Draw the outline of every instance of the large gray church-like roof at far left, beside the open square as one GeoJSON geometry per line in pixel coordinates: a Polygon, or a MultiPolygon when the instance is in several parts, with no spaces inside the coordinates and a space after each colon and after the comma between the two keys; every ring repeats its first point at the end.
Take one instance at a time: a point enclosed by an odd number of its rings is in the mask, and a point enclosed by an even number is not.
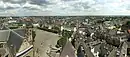
{"type": "Polygon", "coordinates": [[[13,31],[0,30],[0,41],[7,42],[7,45],[11,53],[17,52],[24,40],[24,38],[22,38],[24,37],[24,34],[25,34],[25,29],[14,29],[13,31]],[[14,49],[16,50],[14,51],[14,49]]]}

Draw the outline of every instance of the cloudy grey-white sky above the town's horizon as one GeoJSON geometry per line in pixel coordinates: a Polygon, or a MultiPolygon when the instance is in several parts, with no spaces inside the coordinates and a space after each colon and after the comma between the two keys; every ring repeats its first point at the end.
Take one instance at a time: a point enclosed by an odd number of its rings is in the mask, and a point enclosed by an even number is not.
{"type": "Polygon", "coordinates": [[[130,0],[0,0],[0,16],[130,15],[130,0]]]}

